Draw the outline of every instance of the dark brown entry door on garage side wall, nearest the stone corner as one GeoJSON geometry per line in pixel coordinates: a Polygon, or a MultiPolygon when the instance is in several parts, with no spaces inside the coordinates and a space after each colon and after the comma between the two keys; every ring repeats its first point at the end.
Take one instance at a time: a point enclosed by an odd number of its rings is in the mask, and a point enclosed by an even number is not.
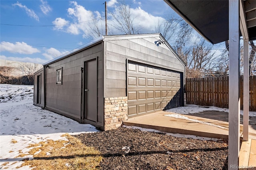
{"type": "Polygon", "coordinates": [[[84,62],[84,119],[97,121],[97,59],[84,62]]]}

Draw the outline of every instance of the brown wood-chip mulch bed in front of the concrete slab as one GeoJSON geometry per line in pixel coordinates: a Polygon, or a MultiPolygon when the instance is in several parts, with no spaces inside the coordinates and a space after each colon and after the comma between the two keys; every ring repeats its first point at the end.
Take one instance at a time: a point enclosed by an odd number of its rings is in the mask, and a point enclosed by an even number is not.
{"type": "Polygon", "coordinates": [[[102,153],[102,170],[228,169],[227,140],[177,138],[123,127],[74,136],[102,153]],[[124,146],[130,146],[128,153],[124,146]]]}

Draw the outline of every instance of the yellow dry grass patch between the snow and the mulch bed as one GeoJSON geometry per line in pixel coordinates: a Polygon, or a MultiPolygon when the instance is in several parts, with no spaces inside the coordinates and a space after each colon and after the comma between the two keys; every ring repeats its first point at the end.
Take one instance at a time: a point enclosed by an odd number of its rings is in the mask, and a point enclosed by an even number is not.
{"type": "MultiPolygon", "coordinates": [[[[94,170],[99,167],[102,156],[98,150],[85,146],[69,134],[64,136],[68,141],[47,140],[30,144],[28,148],[32,149],[26,155],[33,155],[34,159],[24,159],[22,166],[30,165],[35,167],[34,170],[94,170]]],[[[19,155],[23,156],[24,154],[19,155]]]]}

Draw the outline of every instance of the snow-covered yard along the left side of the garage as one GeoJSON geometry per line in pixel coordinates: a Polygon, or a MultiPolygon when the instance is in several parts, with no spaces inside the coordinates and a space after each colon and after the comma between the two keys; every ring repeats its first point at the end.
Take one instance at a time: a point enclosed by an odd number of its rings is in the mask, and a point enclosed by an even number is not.
{"type": "MultiPolygon", "coordinates": [[[[92,125],[79,124],[72,119],[33,105],[32,85],[0,84],[0,169],[16,169],[24,158],[15,158],[28,152],[29,144],[48,139],[66,140],[62,134],[79,134],[98,131],[92,125]],[[16,143],[15,143],[16,142],[16,143]],[[2,165],[4,162],[9,162],[2,165]],[[14,163],[16,162],[16,163],[14,163]]],[[[23,166],[19,169],[31,169],[23,166]]]]}

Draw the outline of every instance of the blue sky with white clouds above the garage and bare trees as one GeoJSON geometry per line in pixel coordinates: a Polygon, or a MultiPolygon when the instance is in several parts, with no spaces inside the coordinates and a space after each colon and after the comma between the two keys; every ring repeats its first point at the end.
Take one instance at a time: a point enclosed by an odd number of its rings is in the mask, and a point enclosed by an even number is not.
{"type": "MultiPolygon", "coordinates": [[[[1,59],[44,63],[78,49],[92,41],[92,19],[102,25],[104,0],[1,0],[0,55],[1,59]],[[9,25],[5,25],[9,24],[9,25]],[[22,26],[17,26],[22,25],[22,26]]],[[[118,2],[108,0],[108,10],[115,12],[118,2]]],[[[153,33],[156,22],[166,14],[175,15],[163,0],[128,0],[140,33],[153,33]]],[[[108,23],[113,18],[108,14],[108,23]]],[[[103,23],[104,25],[104,23],[103,23]]],[[[121,34],[110,27],[114,34],[121,34]]],[[[105,28],[102,28],[105,29],[105,28]]],[[[172,45],[172,44],[171,44],[172,45]]]]}

